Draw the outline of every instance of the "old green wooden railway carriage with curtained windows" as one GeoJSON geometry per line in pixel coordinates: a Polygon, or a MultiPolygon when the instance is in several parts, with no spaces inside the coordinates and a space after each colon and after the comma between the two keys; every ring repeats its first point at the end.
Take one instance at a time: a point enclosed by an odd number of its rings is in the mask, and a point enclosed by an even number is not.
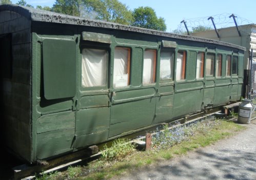
{"type": "Polygon", "coordinates": [[[244,50],[1,5],[6,147],[32,163],[239,101],[244,50]]]}

